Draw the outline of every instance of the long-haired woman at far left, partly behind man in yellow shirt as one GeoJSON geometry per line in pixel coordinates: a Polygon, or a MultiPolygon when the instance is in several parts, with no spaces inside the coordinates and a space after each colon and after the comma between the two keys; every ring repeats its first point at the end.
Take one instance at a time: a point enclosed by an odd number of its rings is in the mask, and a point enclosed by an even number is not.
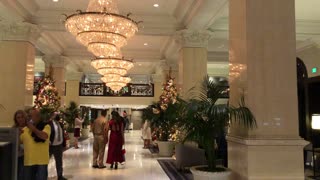
{"type": "MultiPolygon", "coordinates": [[[[14,113],[14,128],[19,128],[20,134],[23,132],[22,129],[27,125],[27,113],[23,110],[18,110],[14,113]]],[[[18,147],[18,180],[23,180],[23,144],[20,144],[18,147]]]]}

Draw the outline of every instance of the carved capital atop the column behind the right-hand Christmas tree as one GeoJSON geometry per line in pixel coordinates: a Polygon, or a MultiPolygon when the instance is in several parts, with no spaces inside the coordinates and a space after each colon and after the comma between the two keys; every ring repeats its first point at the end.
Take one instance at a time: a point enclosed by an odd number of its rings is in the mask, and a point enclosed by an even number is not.
{"type": "Polygon", "coordinates": [[[207,30],[189,30],[177,31],[174,35],[175,42],[183,47],[207,48],[209,40],[213,33],[207,30]]]}

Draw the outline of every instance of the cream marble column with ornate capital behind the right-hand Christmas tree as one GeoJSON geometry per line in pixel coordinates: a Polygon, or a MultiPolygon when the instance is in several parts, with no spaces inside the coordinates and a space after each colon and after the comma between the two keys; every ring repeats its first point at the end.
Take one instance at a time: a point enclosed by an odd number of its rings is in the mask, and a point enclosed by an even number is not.
{"type": "Polygon", "coordinates": [[[201,83],[207,76],[207,46],[212,37],[209,31],[178,31],[176,42],[180,45],[179,51],[179,81],[182,96],[186,97],[188,91],[201,83]]]}

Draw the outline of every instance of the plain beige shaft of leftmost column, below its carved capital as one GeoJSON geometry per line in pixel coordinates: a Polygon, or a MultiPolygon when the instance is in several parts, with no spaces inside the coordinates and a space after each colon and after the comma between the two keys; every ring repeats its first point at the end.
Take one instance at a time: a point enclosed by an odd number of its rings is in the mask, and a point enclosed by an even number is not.
{"type": "Polygon", "coordinates": [[[32,106],[34,46],[28,42],[0,41],[0,126],[11,126],[18,109],[32,106]]]}

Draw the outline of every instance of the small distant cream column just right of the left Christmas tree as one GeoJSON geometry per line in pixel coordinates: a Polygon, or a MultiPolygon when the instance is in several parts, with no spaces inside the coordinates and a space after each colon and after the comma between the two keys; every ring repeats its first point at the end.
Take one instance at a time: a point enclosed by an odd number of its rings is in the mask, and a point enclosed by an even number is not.
{"type": "Polygon", "coordinates": [[[83,76],[82,72],[73,72],[67,76],[65,106],[68,107],[71,101],[80,105],[80,81],[83,76]]]}

